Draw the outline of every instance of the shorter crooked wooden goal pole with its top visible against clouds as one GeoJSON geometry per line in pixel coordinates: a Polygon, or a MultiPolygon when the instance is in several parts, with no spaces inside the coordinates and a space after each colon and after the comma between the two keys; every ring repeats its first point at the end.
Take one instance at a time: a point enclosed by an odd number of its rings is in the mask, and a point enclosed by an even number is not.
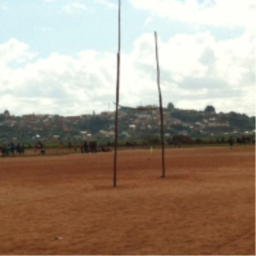
{"type": "Polygon", "coordinates": [[[165,166],[165,141],[164,141],[164,115],[163,115],[163,104],[162,95],[160,89],[160,67],[159,67],[159,55],[158,55],[158,45],[157,45],[157,34],[154,32],[155,41],[155,59],[157,67],[157,85],[159,91],[159,102],[160,102],[160,122],[161,122],[161,141],[162,141],[162,176],[166,177],[166,166],[165,166]]]}

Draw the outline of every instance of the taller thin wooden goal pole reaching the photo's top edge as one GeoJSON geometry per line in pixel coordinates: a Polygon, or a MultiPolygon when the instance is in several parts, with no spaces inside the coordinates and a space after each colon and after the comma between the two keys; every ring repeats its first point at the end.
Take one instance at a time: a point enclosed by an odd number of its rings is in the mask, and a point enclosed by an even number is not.
{"type": "Polygon", "coordinates": [[[119,78],[120,78],[120,48],[121,48],[121,0],[119,0],[119,49],[117,54],[117,82],[116,82],[116,107],[115,107],[115,126],[114,126],[114,155],[113,155],[113,187],[116,187],[117,177],[117,148],[119,133],[119,78]]]}

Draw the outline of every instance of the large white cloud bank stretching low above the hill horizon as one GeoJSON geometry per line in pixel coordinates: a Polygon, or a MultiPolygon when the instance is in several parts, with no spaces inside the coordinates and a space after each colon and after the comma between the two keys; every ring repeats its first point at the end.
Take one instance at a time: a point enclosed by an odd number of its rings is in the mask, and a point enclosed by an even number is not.
{"type": "MultiPolygon", "coordinates": [[[[223,41],[209,32],[180,34],[166,44],[159,38],[164,104],[201,110],[212,104],[218,112],[254,115],[254,45],[250,29],[240,38],[223,41]]],[[[113,107],[116,55],[87,50],[75,57],[53,53],[32,62],[28,46],[15,39],[0,45],[0,55],[1,49],[0,109],[79,114],[106,110],[108,103],[113,107]],[[26,65],[10,66],[19,60],[26,65]]],[[[121,55],[120,75],[121,105],[158,104],[154,34],[143,34],[131,54],[121,55]]]]}

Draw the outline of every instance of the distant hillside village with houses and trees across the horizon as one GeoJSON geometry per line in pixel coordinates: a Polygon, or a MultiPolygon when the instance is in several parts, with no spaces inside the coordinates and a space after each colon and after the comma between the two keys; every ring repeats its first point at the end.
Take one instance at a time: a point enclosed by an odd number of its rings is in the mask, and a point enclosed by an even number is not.
{"type": "MultiPolygon", "coordinates": [[[[160,112],[154,106],[143,111],[119,108],[119,140],[160,141],[160,112]]],[[[201,141],[204,138],[221,141],[229,137],[255,137],[255,117],[241,113],[216,113],[207,106],[202,111],[175,108],[169,103],[164,108],[166,142],[177,136],[201,141]]],[[[81,142],[98,140],[113,142],[114,112],[74,116],[29,113],[12,115],[9,110],[0,113],[0,142],[45,143],[81,142]]]]}

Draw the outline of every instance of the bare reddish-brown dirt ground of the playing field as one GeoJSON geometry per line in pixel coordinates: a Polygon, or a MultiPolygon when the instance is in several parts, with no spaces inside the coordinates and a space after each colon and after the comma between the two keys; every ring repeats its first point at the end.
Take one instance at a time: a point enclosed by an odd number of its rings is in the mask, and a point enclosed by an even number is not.
{"type": "Polygon", "coordinates": [[[0,158],[0,254],[255,254],[254,147],[118,155],[0,158]]]}

